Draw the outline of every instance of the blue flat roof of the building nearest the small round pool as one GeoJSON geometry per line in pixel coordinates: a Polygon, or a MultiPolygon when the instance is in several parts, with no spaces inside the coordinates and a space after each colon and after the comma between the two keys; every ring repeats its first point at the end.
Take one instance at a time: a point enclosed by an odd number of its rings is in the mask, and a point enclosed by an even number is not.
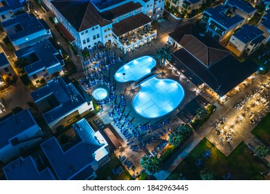
{"type": "MultiPolygon", "coordinates": [[[[42,100],[42,104],[51,104],[49,100],[54,99],[55,105],[52,105],[43,116],[47,123],[51,123],[62,116],[74,112],[78,107],[86,103],[78,90],[74,87],[70,80],[61,77],[54,78],[47,84],[31,93],[35,103],[42,100]]],[[[39,107],[39,106],[37,106],[39,107]]]]}

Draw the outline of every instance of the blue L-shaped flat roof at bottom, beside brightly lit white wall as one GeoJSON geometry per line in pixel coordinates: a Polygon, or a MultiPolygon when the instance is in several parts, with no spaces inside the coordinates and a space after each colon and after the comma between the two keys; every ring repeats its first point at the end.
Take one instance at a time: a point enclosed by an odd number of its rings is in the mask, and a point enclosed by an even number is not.
{"type": "Polygon", "coordinates": [[[58,179],[86,179],[84,174],[79,176],[83,170],[87,170],[87,176],[93,173],[91,163],[94,158],[89,154],[89,146],[85,143],[80,142],[64,152],[53,136],[40,146],[58,179]]]}

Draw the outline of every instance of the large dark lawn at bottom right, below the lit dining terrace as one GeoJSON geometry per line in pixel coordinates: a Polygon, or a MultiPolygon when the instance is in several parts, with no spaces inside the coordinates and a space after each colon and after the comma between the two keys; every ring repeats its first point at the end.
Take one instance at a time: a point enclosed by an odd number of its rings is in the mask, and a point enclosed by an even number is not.
{"type": "Polygon", "coordinates": [[[168,179],[180,179],[179,173],[187,179],[199,180],[199,172],[204,168],[213,170],[215,179],[223,179],[223,175],[231,173],[233,179],[263,179],[261,172],[267,169],[267,166],[262,160],[253,157],[249,148],[241,143],[229,157],[225,157],[222,152],[217,150],[207,139],[202,139],[201,142],[190,152],[179,166],[170,174],[168,179]],[[209,149],[212,152],[210,159],[204,160],[201,168],[195,165],[197,159],[201,159],[202,153],[209,149]]]}

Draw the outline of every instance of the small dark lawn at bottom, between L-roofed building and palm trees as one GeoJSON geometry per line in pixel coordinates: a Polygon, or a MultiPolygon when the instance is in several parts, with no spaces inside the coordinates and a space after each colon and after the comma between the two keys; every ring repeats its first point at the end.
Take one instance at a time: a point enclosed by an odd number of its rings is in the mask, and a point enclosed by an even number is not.
{"type": "Polygon", "coordinates": [[[121,164],[120,160],[115,154],[110,155],[111,161],[109,161],[105,166],[102,166],[97,171],[99,180],[107,180],[107,177],[111,177],[112,180],[132,180],[132,176],[127,172],[125,167],[121,164]],[[124,173],[122,175],[113,175],[112,169],[122,166],[124,173]]]}

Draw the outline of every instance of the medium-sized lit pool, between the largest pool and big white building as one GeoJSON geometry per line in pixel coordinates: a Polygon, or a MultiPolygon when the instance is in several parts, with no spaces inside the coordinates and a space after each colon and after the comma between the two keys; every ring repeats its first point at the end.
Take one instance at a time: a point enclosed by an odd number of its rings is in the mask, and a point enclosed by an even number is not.
{"type": "Polygon", "coordinates": [[[155,66],[156,61],[149,56],[137,58],[123,65],[123,67],[120,67],[120,69],[116,71],[116,81],[129,82],[139,80],[143,76],[151,73],[151,69],[155,66]]]}

